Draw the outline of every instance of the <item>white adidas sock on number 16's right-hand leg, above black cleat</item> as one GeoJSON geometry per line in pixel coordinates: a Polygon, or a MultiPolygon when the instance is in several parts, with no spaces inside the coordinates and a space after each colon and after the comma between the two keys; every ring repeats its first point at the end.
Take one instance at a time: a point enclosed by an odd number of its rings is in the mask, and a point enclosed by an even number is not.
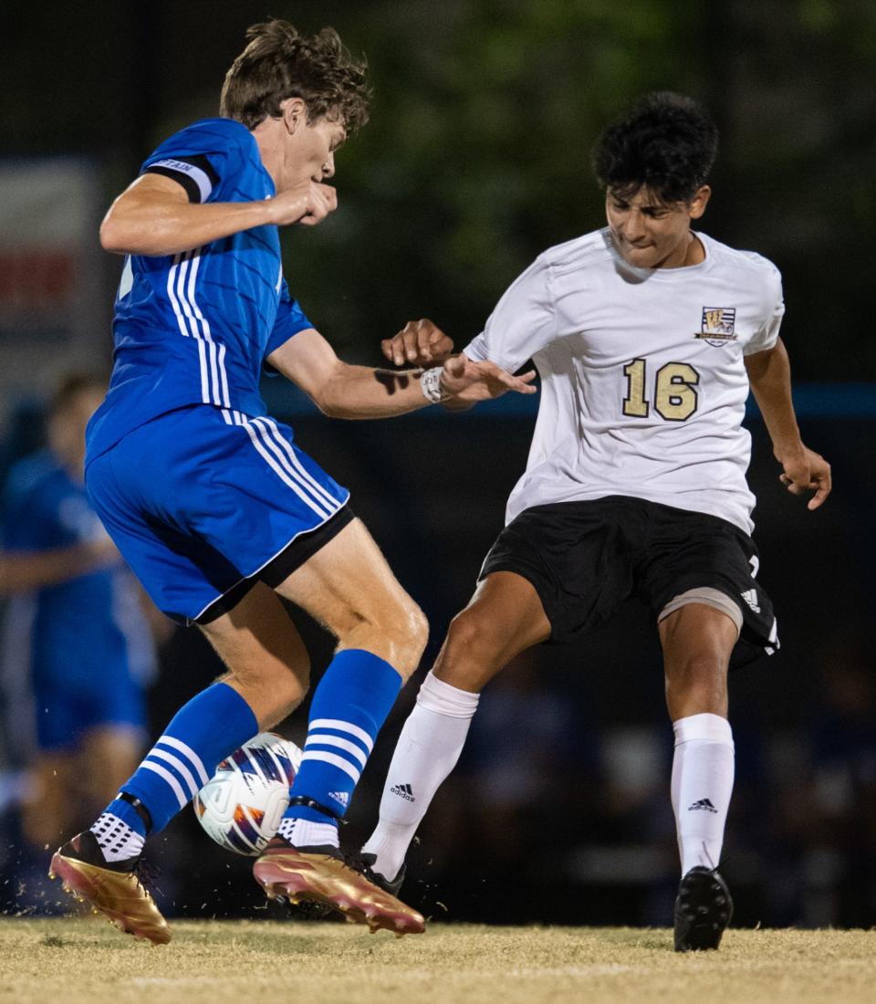
{"type": "Polygon", "coordinates": [[[672,809],[681,874],[696,864],[717,867],[734,789],[734,735],[720,715],[690,715],[672,723],[672,809]]]}

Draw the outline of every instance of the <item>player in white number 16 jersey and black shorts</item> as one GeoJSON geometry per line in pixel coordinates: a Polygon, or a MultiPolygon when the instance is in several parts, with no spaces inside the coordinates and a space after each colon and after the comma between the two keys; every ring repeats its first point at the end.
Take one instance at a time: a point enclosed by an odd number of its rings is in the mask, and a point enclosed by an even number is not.
{"type": "MultiPolygon", "coordinates": [[[[387,888],[486,684],[636,595],[653,611],[675,734],[676,950],[716,948],[729,921],[716,870],[734,779],[727,669],[779,647],[751,538],[750,387],[789,491],[814,490],[816,509],[831,479],[797,427],[778,270],[691,229],[716,146],[691,99],[642,99],[595,152],[608,226],[540,255],[465,349],[512,372],[532,358],[541,402],[507,525],[419,691],[363,848],[387,888]]],[[[396,363],[452,347],[423,347],[412,328],[383,343],[396,363]]]]}

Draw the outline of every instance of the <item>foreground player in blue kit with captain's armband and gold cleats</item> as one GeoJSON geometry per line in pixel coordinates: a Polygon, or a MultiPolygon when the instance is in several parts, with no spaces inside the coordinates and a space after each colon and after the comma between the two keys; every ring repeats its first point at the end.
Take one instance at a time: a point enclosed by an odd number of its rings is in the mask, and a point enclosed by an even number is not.
{"type": "MultiPolygon", "coordinates": [[[[277,370],[333,417],[380,418],[531,393],[533,374],[463,354],[423,373],[337,358],[290,295],[277,227],[314,226],[335,209],[326,181],[367,117],[363,65],[328,28],[308,37],[274,20],[248,38],[222,117],[162,144],[101,225],[103,247],[127,257],[112,379],[86,456],[88,491],[119,551],[160,609],[199,625],[228,673],[177,713],[51,873],[123,931],[170,939],[138,881],[143,843],[222,759],[303,699],[308,657],[282,596],[338,647],[313,695],[289,808],[254,874],[269,896],[418,933],[422,917],[341,853],[337,827],[419,662],[425,618],[348,492],[267,416],[259,378],[277,370]]],[[[418,329],[441,336],[425,321],[418,329]]]]}

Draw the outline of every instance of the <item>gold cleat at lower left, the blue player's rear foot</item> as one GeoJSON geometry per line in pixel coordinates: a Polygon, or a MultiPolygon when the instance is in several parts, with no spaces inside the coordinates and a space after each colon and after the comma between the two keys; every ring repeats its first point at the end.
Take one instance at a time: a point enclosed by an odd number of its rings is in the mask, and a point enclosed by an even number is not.
{"type": "Polygon", "coordinates": [[[112,867],[94,834],[85,830],[54,852],[49,878],[60,878],[65,893],[90,904],[93,913],[103,914],[125,934],[167,945],[171,929],[133,870],[135,863],[121,861],[112,867]],[[103,863],[93,863],[95,859],[103,863]]]}

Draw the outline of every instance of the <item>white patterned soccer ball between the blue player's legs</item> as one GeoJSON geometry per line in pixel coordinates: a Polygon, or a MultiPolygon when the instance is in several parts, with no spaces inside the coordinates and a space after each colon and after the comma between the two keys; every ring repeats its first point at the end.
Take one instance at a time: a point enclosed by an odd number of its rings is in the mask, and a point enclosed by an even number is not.
{"type": "Polygon", "coordinates": [[[301,750],[273,732],[262,732],[216,768],[195,796],[201,825],[226,850],[254,857],[280,828],[301,750]]]}

